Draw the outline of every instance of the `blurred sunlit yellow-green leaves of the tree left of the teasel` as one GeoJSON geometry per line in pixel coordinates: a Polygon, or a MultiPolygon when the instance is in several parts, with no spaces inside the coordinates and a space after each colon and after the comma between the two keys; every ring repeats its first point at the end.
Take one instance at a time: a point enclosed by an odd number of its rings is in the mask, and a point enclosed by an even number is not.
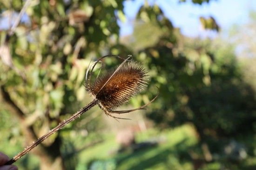
{"type": "MultiPolygon", "coordinates": [[[[19,10],[23,5],[12,3],[19,10]]],[[[11,10],[7,3],[3,8],[11,10]]],[[[40,0],[28,7],[31,24],[18,26],[8,40],[13,63],[26,82],[2,62],[0,72],[6,74],[0,82],[38,134],[48,131],[41,127],[56,124],[61,114],[79,108],[70,109],[70,102],[85,99],[81,84],[90,61],[86,57],[101,53],[108,37],[118,36],[114,9],[121,11],[122,2],[40,0]]]]}

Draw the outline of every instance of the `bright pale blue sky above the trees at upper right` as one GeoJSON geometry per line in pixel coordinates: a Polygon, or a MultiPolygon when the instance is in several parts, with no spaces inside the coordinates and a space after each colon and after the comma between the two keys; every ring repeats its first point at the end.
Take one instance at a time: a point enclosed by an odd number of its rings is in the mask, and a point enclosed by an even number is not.
{"type": "MultiPolygon", "coordinates": [[[[121,35],[133,32],[133,21],[136,13],[145,0],[127,0],[124,2],[126,23],[121,23],[121,35]]],[[[179,0],[148,0],[156,3],[165,16],[175,27],[180,27],[184,35],[190,37],[210,36],[212,32],[202,31],[199,17],[213,16],[223,32],[236,24],[242,25],[249,21],[249,12],[256,11],[256,0],[211,0],[202,5],[193,4],[191,0],[179,3],[179,0]]]]}

